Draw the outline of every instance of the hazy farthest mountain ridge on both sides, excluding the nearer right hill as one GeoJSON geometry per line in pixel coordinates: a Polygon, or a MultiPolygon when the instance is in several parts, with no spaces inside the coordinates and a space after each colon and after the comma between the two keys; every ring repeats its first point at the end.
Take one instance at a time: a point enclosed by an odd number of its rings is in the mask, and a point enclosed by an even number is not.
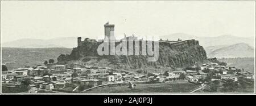
{"type": "MultiPolygon", "coordinates": [[[[86,37],[82,37],[82,40],[86,37]]],[[[160,36],[163,40],[177,41],[178,38],[196,39],[203,47],[234,45],[236,43],[247,43],[254,47],[254,37],[236,37],[223,35],[218,37],[197,37],[185,33],[174,33],[167,36],[160,36]]],[[[48,47],[67,47],[77,46],[77,37],[60,37],[53,39],[18,39],[16,41],[2,43],[2,47],[19,47],[19,48],[48,48],[48,47]]]]}

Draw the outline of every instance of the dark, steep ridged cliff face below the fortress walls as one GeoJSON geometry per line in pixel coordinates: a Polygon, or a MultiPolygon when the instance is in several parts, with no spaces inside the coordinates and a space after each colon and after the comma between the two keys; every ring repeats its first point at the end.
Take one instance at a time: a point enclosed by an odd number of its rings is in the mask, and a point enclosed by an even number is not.
{"type": "Polygon", "coordinates": [[[204,48],[199,45],[199,41],[194,39],[179,42],[160,41],[159,59],[154,62],[148,61],[148,56],[142,55],[100,56],[97,54],[97,47],[100,44],[101,42],[83,42],[81,46],[73,48],[70,55],[60,55],[58,61],[62,64],[75,62],[115,69],[183,68],[207,61],[207,54],[204,48]]]}

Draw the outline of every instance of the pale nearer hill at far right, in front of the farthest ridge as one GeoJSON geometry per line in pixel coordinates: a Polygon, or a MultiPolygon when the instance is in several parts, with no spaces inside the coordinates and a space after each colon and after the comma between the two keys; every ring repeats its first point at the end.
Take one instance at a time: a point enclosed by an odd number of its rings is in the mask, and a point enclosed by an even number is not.
{"type": "Polygon", "coordinates": [[[249,58],[254,57],[254,48],[246,43],[237,43],[226,46],[205,47],[208,58],[249,58]]]}

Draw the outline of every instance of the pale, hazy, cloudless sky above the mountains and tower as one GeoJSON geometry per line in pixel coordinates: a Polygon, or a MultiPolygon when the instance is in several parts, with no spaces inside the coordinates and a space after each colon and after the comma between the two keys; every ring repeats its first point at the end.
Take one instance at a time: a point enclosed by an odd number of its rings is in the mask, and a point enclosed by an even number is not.
{"type": "Polygon", "coordinates": [[[2,42],[104,36],[255,36],[254,1],[1,1],[2,42]]]}

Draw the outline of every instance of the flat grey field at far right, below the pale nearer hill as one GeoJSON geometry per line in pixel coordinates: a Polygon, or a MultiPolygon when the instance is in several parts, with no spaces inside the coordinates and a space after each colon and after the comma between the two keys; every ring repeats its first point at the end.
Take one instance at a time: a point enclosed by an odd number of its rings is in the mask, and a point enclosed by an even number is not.
{"type": "Polygon", "coordinates": [[[243,68],[245,71],[255,72],[254,58],[222,58],[218,60],[228,63],[228,67],[243,68]]]}

